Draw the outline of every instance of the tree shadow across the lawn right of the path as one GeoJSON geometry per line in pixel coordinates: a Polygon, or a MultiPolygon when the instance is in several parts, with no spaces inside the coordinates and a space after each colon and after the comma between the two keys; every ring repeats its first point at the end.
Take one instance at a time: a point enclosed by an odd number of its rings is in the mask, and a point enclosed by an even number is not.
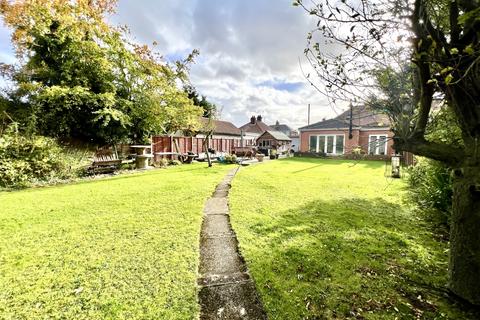
{"type": "Polygon", "coordinates": [[[254,216],[247,260],[272,318],[480,316],[448,296],[447,244],[397,204],[312,201],[254,216]]]}

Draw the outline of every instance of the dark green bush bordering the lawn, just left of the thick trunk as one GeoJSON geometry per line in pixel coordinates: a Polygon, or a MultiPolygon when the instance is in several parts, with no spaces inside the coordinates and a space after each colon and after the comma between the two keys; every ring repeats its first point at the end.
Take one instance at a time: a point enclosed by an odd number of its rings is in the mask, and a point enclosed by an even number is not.
{"type": "Polygon", "coordinates": [[[440,162],[419,158],[409,169],[409,198],[421,209],[437,215],[448,225],[452,210],[452,178],[450,169],[440,162]]]}

